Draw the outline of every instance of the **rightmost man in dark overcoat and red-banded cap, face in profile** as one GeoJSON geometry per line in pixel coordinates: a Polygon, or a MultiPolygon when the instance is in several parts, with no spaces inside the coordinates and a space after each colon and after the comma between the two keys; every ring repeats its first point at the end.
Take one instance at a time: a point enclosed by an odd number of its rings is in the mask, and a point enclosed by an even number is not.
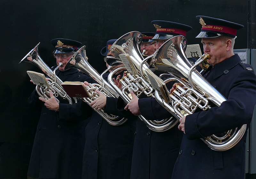
{"type": "Polygon", "coordinates": [[[243,124],[250,125],[256,103],[256,77],[252,66],[244,64],[233,47],[236,30],[243,25],[207,16],[196,16],[202,25],[196,38],[202,38],[204,53],[211,55],[203,76],[227,98],[212,107],[180,118],[184,132],[172,179],[244,178],[245,132],[226,151],[209,148],[200,138],[222,133],[243,124]]]}

